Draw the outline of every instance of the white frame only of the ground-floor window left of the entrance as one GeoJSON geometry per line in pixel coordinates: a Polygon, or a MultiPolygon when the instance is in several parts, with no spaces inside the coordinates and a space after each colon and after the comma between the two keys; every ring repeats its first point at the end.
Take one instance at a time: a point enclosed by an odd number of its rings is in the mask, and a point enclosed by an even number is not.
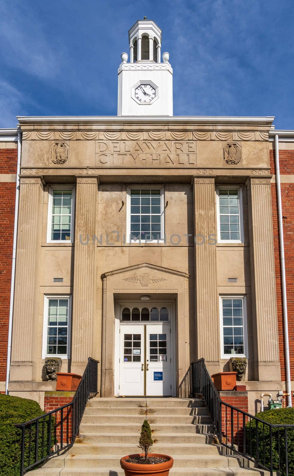
{"type": "Polygon", "coordinates": [[[71,294],[45,294],[44,295],[42,358],[46,358],[46,357],[61,357],[63,359],[71,358],[71,294]],[[67,354],[47,354],[49,299],[68,299],[69,300],[69,315],[68,315],[68,326],[67,326],[67,354]]]}

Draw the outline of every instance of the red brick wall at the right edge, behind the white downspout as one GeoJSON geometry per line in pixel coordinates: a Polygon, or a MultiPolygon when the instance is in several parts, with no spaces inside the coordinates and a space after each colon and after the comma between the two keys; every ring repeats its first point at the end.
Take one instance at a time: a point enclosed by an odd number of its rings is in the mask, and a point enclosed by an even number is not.
{"type": "MultiPolygon", "coordinates": [[[[271,173],[275,174],[274,151],[270,151],[271,173]]],[[[294,174],[294,150],[279,150],[280,174],[294,174]]],[[[291,379],[294,380],[294,183],[281,183],[284,251],[286,268],[286,288],[288,305],[288,329],[290,344],[291,379]]],[[[281,377],[286,378],[285,349],[284,349],[284,322],[282,302],[282,277],[280,260],[280,241],[278,223],[278,205],[276,185],[272,184],[272,208],[274,227],[274,256],[275,256],[275,281],[278,311],[278,332],[281,362],[281,377]]]]}

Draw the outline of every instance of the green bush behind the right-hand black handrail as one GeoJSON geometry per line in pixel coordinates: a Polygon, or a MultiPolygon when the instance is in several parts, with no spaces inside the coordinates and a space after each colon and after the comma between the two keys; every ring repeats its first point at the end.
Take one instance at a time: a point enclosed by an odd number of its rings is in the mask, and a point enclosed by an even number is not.
{"type": "MultiPolygon", "coordinates": [[[[279,408],[274,410],[266,410],[264,412],[257,413],[255,417],[259,418],[260,420],[263,420],[264,422],[271,423],[272,425],[294,425],[294,408],[279,408]]],[[[287,444],[289,475],[294,475],[294,427],[291,429],[287,429],[287,444]]],[[[270,468],[270,431],[269,426],[263,425],[263,423],[261,422],[258,423],[258,448],[260,463],[270,468]]],[[[253,458],[256,458],[255,420],[251,420],[251,422],[248,422],[246,424],[246,449],[247,453],[251,453],[251,456],[253,456],[253,458]]],[[[286,449],[284,428],[280,430],[278,430],[278,428],[273,428],[272,451],[274,471],[280,471],[279,474],[283,476],[286,474],[286,449]],[[279,443],[280,456],[278,447],[279,443]]]]}

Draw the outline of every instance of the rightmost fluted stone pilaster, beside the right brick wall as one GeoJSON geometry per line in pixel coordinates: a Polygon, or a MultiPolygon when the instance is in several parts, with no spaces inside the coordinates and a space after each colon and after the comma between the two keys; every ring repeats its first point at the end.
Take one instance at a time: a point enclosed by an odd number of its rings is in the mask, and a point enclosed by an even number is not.
{"type": "Polygon", "coordinates": [[[250,178],[248,189],[255,378],[280,380],[271,179],[250,178]]]}

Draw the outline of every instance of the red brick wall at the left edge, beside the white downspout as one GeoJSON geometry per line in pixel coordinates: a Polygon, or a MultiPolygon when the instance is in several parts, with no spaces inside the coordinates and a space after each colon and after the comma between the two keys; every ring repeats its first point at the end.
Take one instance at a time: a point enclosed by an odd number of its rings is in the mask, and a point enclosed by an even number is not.
{"type": "MultiPolygon", "coordinates": [[[[0,174],[15,174],[17,149],[0,149],[0,174]]],[[[15,182],[0,181],[0,382],[6,379],[15,182]]]]}

